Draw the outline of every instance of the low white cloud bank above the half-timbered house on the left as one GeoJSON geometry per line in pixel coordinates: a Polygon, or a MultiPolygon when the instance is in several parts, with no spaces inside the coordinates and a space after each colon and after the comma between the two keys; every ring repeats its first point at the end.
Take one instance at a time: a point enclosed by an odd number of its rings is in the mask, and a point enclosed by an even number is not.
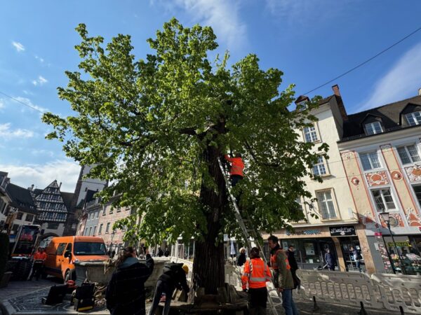
{"type": "Polygon", "coordinates": [[[18,186],[27,188],[34,184],[36,188],[44,189],[57,179],[58,183],[62,182],[61,191],[73,193],[81,168],[76,162],[55,160],[46,164],[0,164],[0,170],[8,172],[11,183],[18,186]]]}

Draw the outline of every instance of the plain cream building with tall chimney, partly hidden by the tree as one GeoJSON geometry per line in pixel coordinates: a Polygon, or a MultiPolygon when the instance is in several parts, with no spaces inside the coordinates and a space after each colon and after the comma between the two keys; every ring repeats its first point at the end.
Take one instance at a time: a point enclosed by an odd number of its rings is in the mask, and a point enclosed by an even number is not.
{"type": "MultiPolygon", "coordinates": [[[[295,258],[302,269],[314,269],[326,265],[327,250],[333,253],[337,262],[336,270],[357,271],[353,260],[354,247],[363,257],[362,267],[373,271],[364,226],[359,223],[356,205],[349,190],[349,183],[342,165],[338,141],[342,139],[344,124],[348,120],[338,85],[333,86],[334,94],[322,99],[318,109],[312,114],[318,118],[312,127],[298,131],[302,141],[329,146],[329,159],[320,158],[312,172],[323,178],[323,183],[305,179],[307,190],[317,199],[299,200],[305,214],[305,221],[293,223],[293,230],[274,232],[283,248],[295,247],[295,258]],[[312,216],[312,214],[316,214],[312,216]]],[[[296,103],[305,102],[307,97],[299,97],[296,103]]],[[[267,239],[269,235],[263,234],[267,239]]]]}

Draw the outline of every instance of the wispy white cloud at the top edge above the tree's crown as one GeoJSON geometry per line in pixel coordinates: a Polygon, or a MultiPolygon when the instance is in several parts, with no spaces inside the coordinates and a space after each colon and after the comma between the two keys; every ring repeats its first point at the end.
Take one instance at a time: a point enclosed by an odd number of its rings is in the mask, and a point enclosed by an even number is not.
{"type": "Polygon", "coordinates": [[[182,8],[194,22],[210,25],[230,50],[239,50],[247,43],[246,25],[239,17],[240,0],[159,0],[152,3],[159,3],[171,11],[182,8]]]}

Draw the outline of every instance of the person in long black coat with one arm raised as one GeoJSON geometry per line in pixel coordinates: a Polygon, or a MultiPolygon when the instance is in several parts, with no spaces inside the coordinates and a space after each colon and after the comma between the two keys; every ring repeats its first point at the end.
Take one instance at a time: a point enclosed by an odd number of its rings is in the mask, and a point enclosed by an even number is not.
{"type": "Polygon", "coordinates": [[[133,247],[124,248],[116,268],[105,292],[107,309],[112,315],[145,315],[145,281],[154,270],[149,251],[144,265],[136,258],[133,247]]]}

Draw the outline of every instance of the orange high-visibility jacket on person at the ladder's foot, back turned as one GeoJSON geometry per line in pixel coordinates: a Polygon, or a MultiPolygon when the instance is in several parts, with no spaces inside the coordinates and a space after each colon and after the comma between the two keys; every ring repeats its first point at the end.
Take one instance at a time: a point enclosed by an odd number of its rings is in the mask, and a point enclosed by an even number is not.
{"type": "Polygon", "coordinates": [[[253,258],[244,264],[244,272],[241,276],[243,289],[247,288],[247,283],[248,288],[265,288],[266,282],[271,279],[272,274],[261,258],[253,258]]]}

